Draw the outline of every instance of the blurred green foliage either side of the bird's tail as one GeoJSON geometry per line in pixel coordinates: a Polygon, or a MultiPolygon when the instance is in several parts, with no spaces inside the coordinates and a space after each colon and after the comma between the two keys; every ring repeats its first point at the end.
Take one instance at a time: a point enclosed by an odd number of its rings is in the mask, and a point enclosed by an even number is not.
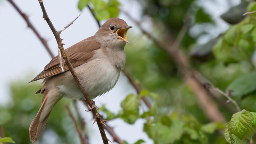
{"type": "MultiPolygon", "coordinates": [[[[4,126],[5,136],[11,137],[16,144],[28,144],[28,128],[41,106],[42,99],[42,95],[35,95],[35,91],[41,85],[27,84],[26,78],[11,82],[10,87],[12,100],[6,107],[0,106],[0,124],[4,126]]],[[[62,99],[55,105],[42,133],[42,137],[46,133],[52,133],[56,139],[55,144],[79,143],[73,122],[65,109],[68,101],[62,99]]],[[[42,144],[43,138],[38,143],[42,144]]]]}

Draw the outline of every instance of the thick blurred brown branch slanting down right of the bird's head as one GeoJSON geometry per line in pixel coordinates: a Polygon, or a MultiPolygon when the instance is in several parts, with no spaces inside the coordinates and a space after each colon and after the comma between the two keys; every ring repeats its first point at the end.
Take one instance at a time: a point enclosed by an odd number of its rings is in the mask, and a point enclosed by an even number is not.
{"type": "Polygon", "coordinates": [[[220,110],[218,110],[217,104],[211,99],[208,91],[204,90],[203,85],[200,83],[200,81],[198,81],[196,77],[193,76],[187,57],[184,56],[179,49],[177,49],[177,46],[179,44],[176,44],[176,46],[174,47],[157,40],[153,35],[144,30],[141,23],[139,21],[136,21],[132,16],[130,16],[129,13],[123,11],[122,9],[121,12],[124,13],[131,21],[133,21],[137,25],[137,27],[139,27],[143,34],[147,35],[148,38],[151,39],[157,46],[166,50],[166,52],[171,57],[173,57],[174,61],[176,62],[177,66],[181,71],[183,80],[186,80],[188,82],[189,87],[191,88],[191,90],[194,91],[195,95],[197,96],[198,105],[204,111],[204,114],[211,121],[225,122],[225,117],[220,112],[220,110]]]}

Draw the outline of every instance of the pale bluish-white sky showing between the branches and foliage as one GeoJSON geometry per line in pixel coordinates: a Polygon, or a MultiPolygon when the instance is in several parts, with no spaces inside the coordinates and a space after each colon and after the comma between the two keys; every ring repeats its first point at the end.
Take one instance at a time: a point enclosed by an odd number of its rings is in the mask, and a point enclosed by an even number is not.
{"type": "MultiPolygon", "coordinates": [[[[39,33],[48,40],[49,47],[56,55],[57,44],[50,28],[42,19],[42,11],[38,1],[14,0],[14,2],[23,12],[29,15],[29,20],[34,24],[39,33]]],[[[53,25],[57,30],[62,29],[70,21],[76,18],[76,16],[81,14],[74,24],[61,34],[63,43],[66,44],[65,48],[94,35],[97,31],[98,26],[88,9],[84,9],[82,12],[78,10],[78,0],[44,0],[43,2],[49,18],[52,20],[53,25]]],[[[206,5],[208,11],[213,13],[213,16],[216,19],[218,19],[218,16],[222,12],[227,10],[226,2],[223,2],[223,0],[217,0],[214,4],[211,0],[201,0],[201,2],[203,5],[206,5]],[[220,10],[216,11],[216,9],[220,10]]],[[[140,20],[141,8],[135,0],[121,0],[121,3],[123,4],[122,7],[124,10],[128,11],[135,19],[140,20]]],[[[239,0],[233,1],[234,5],[238,3],[239,0]]],[[[32,79],[36,74],[43,70],[45,65],[50,61],[50,56],[32,30],[27,28],[22,17],[5,0],[0,0],[0,18],[0,104],[5,105],[10,100],[9,82],[16,79],[23,79],[23,77],[27,77],[28,74],[31,74],[29,77],[32,79]]],[[[119,18],[126,20],[128,25],[135,26],[126,18],[126,16],[121,14],[119,18]]],[[[216,29],[215,32],[210,32],[211,35],[216,35],[228,28],[223,22],[220,22],[218,25],[222,28],[217,32],[216,29]]],[[[139,30],[134,27],[129,30],[129,32],[136,33],[139,32],[139,30]]],[[[121,74],[120,80],[117,82],[114,89],[109,93],[96,98],[95,102],[99,107],[101,104],[106,104],[106,107],[109,110],[118,112],[120,110],[120,102],[131,93],[135,93],[135,90],[129,85],[126,77],[121,74]]],[[[87,127],[92,131],[92,134],[90,134],[90,143],[102,143],[97,126],[91,126],[91,123],[93,122],[91,114],[84,112],[84,108],[81,108],[81,113],[87,120],[87,127]]],[[[143,123],[143,120],[138,120],[134,125],[129,125],[124,123],[121,119],[116,119],[110,121],[108,124],[114,126],[115,131],[120,138],[127,140],[129,143],[134,143],[138,139],[144,139],[147,144],[153,144],[153,141],[143,132],[143,123]]],[[[110,140],[113,140],[111,136],[108,135],[108,137],[110,140]]]]}

